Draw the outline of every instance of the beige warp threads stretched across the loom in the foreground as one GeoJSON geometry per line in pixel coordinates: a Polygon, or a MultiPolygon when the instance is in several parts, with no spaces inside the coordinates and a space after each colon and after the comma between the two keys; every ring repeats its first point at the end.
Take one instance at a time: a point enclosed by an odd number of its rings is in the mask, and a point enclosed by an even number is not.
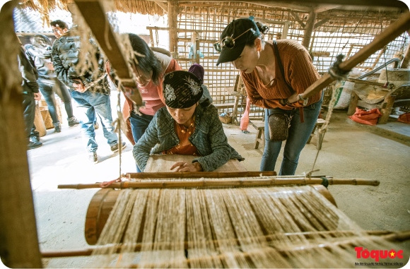
{"type": "Polygon", "coordinates": [[[354,246],[394,249],[310,186],[127,189],[98,245],[90,268],[354,268],[354,246]]]}

